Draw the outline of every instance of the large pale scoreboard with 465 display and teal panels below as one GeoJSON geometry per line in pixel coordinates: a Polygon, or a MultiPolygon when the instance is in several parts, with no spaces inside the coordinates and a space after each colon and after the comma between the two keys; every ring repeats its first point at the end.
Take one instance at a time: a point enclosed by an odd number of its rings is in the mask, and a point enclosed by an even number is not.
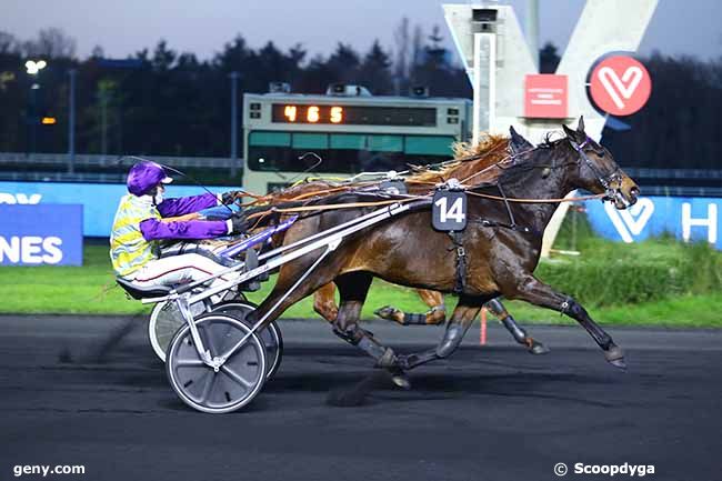
{"type": "Polygon", "coordinates": [[[243,187],[262,194],[308,176],[447,160],[470,128],[469,99],[245,93],[243,187]],[[312,170],[307,152],[322,159],[312,170]]]}

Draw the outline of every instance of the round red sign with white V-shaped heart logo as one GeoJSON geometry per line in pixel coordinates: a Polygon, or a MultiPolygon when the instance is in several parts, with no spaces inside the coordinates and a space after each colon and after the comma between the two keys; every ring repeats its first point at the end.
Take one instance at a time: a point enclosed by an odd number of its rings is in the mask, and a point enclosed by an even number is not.
{"type": "Polygon", "coordinates": [[[651,92],[650,72],[631,57],[606,58],[592,72],[592,100],[612,116],[631,116],[644,107],[651,92]]]}

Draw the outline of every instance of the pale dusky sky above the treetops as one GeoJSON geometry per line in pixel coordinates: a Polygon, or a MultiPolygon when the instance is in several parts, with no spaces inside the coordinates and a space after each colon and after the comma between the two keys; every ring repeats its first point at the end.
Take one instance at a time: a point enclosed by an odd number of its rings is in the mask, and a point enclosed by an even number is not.
{"type": "MultiPolygon", "coordinates": [[[[634,0],[629,0],[634,1],[634,0]]],[[[453,3],[454,1],[449,1],[453,3]]],[[[237,33],[252,47],[273,40],[288,48],[301,42],[309,54],[328,54],[341,40],[365,51],[378,38],[393,47],[402,17],[430,31],[439,24],[451,47],[438,0],[3,0],[0,30],[20,39],[60,27],[87,57],[101,46],[107,57],[123,58],[159,39],[176,50],[210,58],[237,33]]],[[[458,0],[457,3],[464,3],[458,0]]],[[[523,27],[525,0],[510,0],[523,27]]],[[[541,41],[566,43],[583,0],[541,0],[541,41]]],[[[641,52],[722,57],[722,1],[660,0],[641,52]]]]}

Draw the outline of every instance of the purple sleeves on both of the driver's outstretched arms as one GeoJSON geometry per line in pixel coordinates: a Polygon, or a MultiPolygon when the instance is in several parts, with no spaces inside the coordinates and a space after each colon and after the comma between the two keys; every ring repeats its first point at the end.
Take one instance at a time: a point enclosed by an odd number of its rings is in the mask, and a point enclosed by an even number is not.
{"type": "MultiPolygon", "coordinates": [[[[202,196],[167,199],[158,204],[161,217],[178,217],[198,212],[218,204],[218,198],[212,193],[202,196]]],[[[161,239],[212,239],[228,234],[224,221],[187,220],[162,222],[158,219],[146,219],[140,222],[140,232],[148,241],[161,239]]]]}

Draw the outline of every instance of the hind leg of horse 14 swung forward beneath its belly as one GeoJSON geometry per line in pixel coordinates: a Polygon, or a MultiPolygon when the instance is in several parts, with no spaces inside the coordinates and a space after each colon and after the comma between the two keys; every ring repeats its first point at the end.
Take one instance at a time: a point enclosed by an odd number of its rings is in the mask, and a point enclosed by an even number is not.
{"type": "Polygon", "coordinates": [[[372,280],[371,274],[367,272],[347,273],[334,280],[339,287],[341,303],[339,304],[333,332],[373,358],[377,367],[385,368],[391,372],[394,383],[408,389],[410,383],[399,369],[399,359],[393,350],[381,344],[371,332],[359,327],[361,308],[372,280]]]}

